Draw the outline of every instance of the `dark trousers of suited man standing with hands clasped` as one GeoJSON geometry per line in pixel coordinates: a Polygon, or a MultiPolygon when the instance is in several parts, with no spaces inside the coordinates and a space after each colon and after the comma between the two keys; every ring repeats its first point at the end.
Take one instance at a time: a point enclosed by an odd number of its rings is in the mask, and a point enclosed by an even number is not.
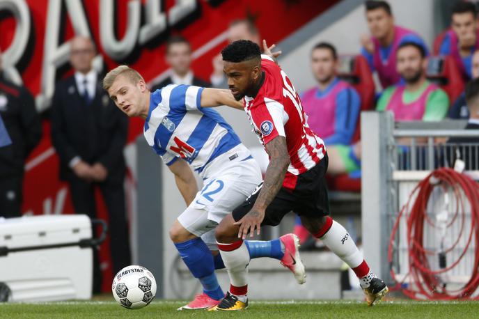
{"type": "MultiPolygon", "coordinates": [[[[125,189],[123,182],[92,183],[79,178],[70,180],[70,192],[74,210],[77,214],[86,214],[96,218],[95,187],[100,187],[108,210],[111,263],[113,274],[131,264],[129,235],[125,210],[125,189]]],[[[93,291],[100,291],[101,272],[97,250],[93,254],[93,291]]]]}

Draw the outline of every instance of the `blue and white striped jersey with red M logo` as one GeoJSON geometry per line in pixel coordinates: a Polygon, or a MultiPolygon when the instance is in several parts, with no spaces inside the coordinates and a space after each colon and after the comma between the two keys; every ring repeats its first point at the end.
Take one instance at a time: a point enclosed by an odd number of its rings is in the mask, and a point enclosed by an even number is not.
{"type": "Polygon", "coordinates": [[[217,111],[201,107],[198,86],[170,84],[152,92],[143,134],[166,165],[182,158],[201,173],[241,141],[217,111]]]}

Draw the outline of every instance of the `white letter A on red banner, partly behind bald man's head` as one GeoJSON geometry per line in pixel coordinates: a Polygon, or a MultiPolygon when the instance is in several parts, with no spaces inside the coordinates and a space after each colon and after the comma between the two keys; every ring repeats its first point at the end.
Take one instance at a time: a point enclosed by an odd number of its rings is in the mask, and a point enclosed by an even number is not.
{"type": "MultiPolygon", "coordinates": [[[[86,15],[81,0],[65,0],[68,16],[72,22],[74,34],[91,38],[86,15]]],[[[45,43],[43,45],[42,86],[37,97],[39,111],[49,107],[55,88],[56,70],[68,63],[70,57],[70,41],[58,45],[63,0],[49,0],[45,43]]],[[[97,55],[93,61],[95,70],[101,70],[102,56],[97,55]]]]}

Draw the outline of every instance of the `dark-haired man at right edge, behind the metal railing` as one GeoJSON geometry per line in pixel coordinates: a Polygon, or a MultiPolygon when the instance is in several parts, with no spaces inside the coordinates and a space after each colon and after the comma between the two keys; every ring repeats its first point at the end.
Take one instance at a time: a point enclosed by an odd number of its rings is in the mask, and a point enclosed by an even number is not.
{"type": "MultiPolygon", "coordinates": [[[[469,108],[469,120],[464,130],[479,130],[479,78],[473,79],[466,86],[466,104],[469,108]]],[[[453,146],[453,152],[448,152],[447,158],[460,157],[464,161],[465,169],[479,169],[479,136],[453,137],[447,142],[453,146]]],[[[454,162],[449,163],[451,166],[454,162]]]]}

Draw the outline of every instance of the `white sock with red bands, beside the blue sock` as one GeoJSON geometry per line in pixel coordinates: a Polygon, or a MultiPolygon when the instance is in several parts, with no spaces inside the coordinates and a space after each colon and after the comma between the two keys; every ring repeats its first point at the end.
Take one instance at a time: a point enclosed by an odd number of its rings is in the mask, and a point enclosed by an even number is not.
{"type": "MultiPolygon", "coordinates": [[[[241,240],[241,244],[233,242],[232,244],[218,243],[219,253],[223,259],[223,263],[228,270],[231,286],[242,288],[248,285],[248,264],[249,264],[249,252],[244,241],[241,240]],[[239,245],[239,246],[238,246],[239,245]],[[231,247],[238,246],[235,249],[231,247]]],[[[230,288],[230,293],[239,297],[244,295],[246,301],[246,291],[244,293],[235,293],[233,287],[230,288]],[[233,290],[233,291],[231,291],[233,290]]],[[[241,300],[243,301],[243,300],[241,300]]]]}

